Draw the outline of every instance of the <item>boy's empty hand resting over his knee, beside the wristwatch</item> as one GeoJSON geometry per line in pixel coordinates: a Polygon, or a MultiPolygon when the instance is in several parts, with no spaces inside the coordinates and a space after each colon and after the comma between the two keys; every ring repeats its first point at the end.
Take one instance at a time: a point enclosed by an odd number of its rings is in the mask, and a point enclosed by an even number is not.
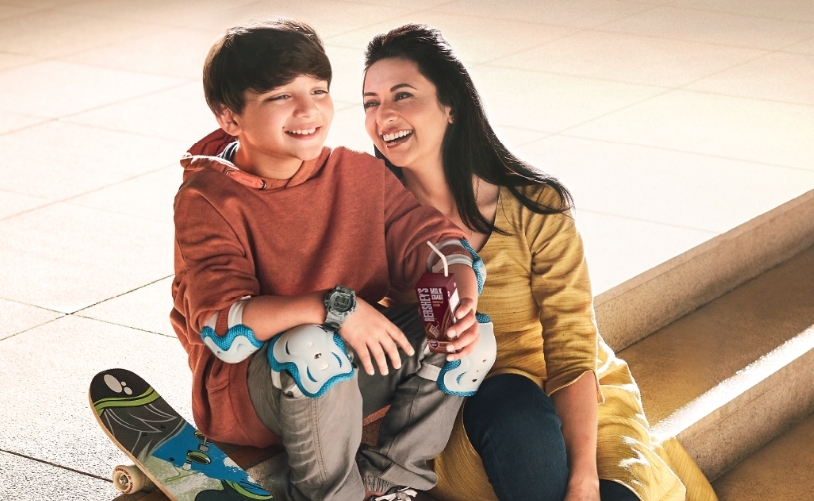
{"type": "Polygon", "coordinates": [[[379,366],[379,372],[386,375],[390,372],[387,357],[390,357],[393,368],[398,369],[401,367],[399,348],[409,356],[415,353],[407,337],[393,322],[359,298],[356,298],[356,311],[339,329],[339,335],[353,348],[365,372],[371,376],[374,374],[373,360],[379,366]]]}

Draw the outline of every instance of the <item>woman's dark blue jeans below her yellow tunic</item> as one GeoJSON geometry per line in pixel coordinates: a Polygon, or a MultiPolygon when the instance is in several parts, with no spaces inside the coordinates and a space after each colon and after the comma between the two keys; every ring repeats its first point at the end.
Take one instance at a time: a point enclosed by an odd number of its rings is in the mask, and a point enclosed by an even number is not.
{"type": "MultiPolygon", "coordinates": [[[[568,458],[554,402],[534,381],[501,374],[464,405],[464,429],[500,501],[562,501],[568,458]]],[[[599,481],[602,501],[638,501],[627,487],[599,481]]]]}

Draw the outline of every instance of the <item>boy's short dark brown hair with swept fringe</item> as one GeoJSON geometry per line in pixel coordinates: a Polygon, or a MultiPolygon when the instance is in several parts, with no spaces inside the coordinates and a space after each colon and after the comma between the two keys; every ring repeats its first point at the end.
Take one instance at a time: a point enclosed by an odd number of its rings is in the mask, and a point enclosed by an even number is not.
{"type": "Polygon", "coordinates": [[[291,19],[235,26],[206,56],[206,104],[214,113],[225,107],[240,114],[247,90],[261,94],[300,75],[331,83],[331,63],[313,28],[291,19]]]}

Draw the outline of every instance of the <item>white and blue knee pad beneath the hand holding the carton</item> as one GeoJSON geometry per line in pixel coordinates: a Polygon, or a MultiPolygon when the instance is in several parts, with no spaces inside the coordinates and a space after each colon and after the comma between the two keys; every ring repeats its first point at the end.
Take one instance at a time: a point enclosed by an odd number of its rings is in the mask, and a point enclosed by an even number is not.
{"type": "Polygon", "coordinates": [[[444,393],[471,397],[486,378],[497,357],[497,339],[492,321],[478,314],[480,342],[475,350],[460,360],[447,362],[438,374],[438,387],[444,393]]]}

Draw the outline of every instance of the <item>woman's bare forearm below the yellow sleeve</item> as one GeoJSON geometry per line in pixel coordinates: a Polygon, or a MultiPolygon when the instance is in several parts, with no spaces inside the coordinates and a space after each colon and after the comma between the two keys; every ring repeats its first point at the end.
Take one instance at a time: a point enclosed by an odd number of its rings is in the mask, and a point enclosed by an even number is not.
{"type": "Polygon", "coordinates": [[[568,490],[564,501],[599,501],[596,471],[596,380],[592,372],[551,395],[562,421],[568,455],[568,490]]]}

